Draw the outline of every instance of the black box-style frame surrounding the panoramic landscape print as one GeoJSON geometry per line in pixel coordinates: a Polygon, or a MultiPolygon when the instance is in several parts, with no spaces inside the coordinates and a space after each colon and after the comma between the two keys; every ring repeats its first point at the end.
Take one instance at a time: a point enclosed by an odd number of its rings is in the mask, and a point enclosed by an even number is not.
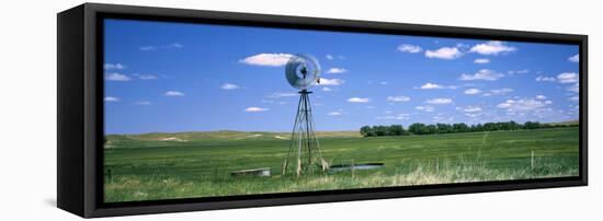
{"type": "Polygon", "coordinates": [[[588,36],[84,3],[57,14],[57,206],[92,218],[588,185],[588,36]],[[103,197],[103,19],[573,44],[580,48],[577,177],[110,202],[103,197]]]}

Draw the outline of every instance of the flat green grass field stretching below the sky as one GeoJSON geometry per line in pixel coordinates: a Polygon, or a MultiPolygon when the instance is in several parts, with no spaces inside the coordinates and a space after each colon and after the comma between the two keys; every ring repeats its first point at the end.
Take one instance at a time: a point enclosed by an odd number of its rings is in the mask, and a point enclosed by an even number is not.
{"type": "Polygon", "coordinates": [[[362,138],[318,132],[330,164],[384,168],[281,176],[289,133],[111,135],[105,143],[105,201],[196,198],[422,184],[578,176],[579,128],[362,138]],[[534,160],[532,160],[532,152],[534,160]],[[230,172],[270,167],[271,177],[230,172]]]}

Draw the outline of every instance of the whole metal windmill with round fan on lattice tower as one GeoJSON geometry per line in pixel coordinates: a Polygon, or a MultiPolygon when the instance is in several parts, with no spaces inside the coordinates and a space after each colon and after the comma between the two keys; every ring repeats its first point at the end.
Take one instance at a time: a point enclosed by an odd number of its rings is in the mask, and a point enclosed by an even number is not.
{"type": "Polygon", "coordinates": [[[312,120],[312,109],[308,91],[310,86],[320,83],[320,65],[310,55],[298,54],[293,56],[285,67],[285,77],[288,83],[298,90],[299,102],[291,136],[289,149],[283,161],[282,174],[291,170],[295,163],[297,176],[316,171],[326,171],[329,164],[322,159],[320,144],[316,138],[312,120]],[[292,162],[293,160],[293,162],[292,162]]]}

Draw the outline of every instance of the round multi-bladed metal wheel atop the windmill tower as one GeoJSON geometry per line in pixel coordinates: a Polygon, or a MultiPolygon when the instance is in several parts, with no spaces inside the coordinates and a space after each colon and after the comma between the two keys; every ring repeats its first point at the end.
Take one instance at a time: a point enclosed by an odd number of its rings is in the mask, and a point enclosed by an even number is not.
{"type": "Polygon", "coordinates": [[[287,61],[285,77],[292,86],[306,90],[319,82],[320,65],[310,55],[297,54],[287,61]]]}

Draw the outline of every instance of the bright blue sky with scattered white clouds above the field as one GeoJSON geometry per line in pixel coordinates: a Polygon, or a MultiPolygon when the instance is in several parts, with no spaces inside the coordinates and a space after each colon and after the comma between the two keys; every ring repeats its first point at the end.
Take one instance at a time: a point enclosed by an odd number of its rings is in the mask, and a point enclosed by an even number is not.
{"type": "Polygon", "coordinates": [[[105,132],[288,131],[298,53],[317,130],[578,119],[574,45],[106,20],[105,132]]]}

